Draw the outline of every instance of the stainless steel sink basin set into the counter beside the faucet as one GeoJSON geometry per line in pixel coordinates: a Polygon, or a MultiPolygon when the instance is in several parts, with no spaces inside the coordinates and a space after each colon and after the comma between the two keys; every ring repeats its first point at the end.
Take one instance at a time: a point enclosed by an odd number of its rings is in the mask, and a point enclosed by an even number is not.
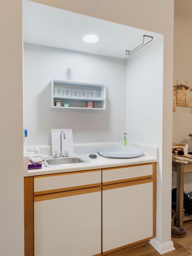
{"type": "Polygon", "coordinates": [[[67,165],[67,164],[79,164],[79,163],[85,163],[85,161],[83,161],[80,158],[76,158],[76,157],[61,157],[61,158],[47,158],[45,159],[45,161],[43,162],[44,165],[46,167],[50,167],[52,165],[67,165]]]}

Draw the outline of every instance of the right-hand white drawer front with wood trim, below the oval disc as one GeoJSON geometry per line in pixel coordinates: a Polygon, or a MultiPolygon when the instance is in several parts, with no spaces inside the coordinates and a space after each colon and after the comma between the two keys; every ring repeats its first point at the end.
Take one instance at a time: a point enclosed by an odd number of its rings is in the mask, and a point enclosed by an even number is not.
{"type": "MultiPolygon", "coordinates": [[[[151,177],[153,175],[153,164],[135,165],[127,167],[119,167],[116,169],[103,169],[102,182],[120,181],[123,179],[151,177]]],[[[113,182],[114,183],[114,182],[113,182]]]]}

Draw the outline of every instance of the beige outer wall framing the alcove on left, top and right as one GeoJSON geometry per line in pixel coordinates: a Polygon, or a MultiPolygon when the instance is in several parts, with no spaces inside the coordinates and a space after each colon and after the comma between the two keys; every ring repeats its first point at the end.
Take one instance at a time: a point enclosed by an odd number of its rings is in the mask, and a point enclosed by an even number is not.
{"type": "MultiPolygon", "coordinates": [[[[39,3],[52,5],[67,11],[89,15],[92,17],[109,20],[112,22],[133,26],[147,31],[153,31],[164,35],[164,79],[163,79],[163,160],[162,170],[158,173],[158,186],[161,187],[161,201],[158,203],[157,212],[157,237],[160,243],[159,248],[165,251],[167,244],[167,232],[170,232],[170,179],[171,176],[171,158],[169,152],[172,143],[172,84],[173,84],[173,0],[37,0],[39,3]],[[170,86],[171,85],[171,86],[170,86]]],[[[16,106],[6,107],[7,97],[4,97],[7,88],[1,88],[1,110],[3,110],[3,119],[1,119],[1,156],[7,161],[1,161],[1,255],[2,256],[23,256],[23,194],[21,177],[22,161],[22,67],[20,65],[22,58],[21,42],[21,0],[1,1],[1,42],[3,42],[2,76],[1,85],[9,83],[10,90],[13,92],[9,96],[11,102],[16,101],[16,106]],[[2,35],[3,32],[3,35],[2,35]],[[14,35],[14,40],[10,40],[10,35],[14,35]],[[13,47],[14,46],[14,47],[13,47]],[[16,61],[16,63],[14,61],[16,61]],[[8,81],[8,82],[7,82],[8,81]],[[17,97],[15,97],[17,95],[17,97]],[[14,96],[14,98],[13,98],[14,96]],[[19,115],[18,115],[19,113],[19,115]],[[11,121],[8,126],[7,120],[11,121]],[[14,127],[14,136],[10,139],[14,127]],[[4,140],[4,138],[9,140],[4,140]],[[19,145],[19,146],[17,146],[19,145]],[[16,149],[14,158],[10,162],[8,148],[16,149]],[[5,157],[5,158],[4,158],[5,157]],[[14,159],[14,161],[13,161],[14,159]],[[7,162],[9,166],[7,167],[7,162]],[[2,192],[3,189],[3,192],[2,192]],[[8,190],[13,196],[10,199],[10,193],[4,193],[8,190]],[[16,199],[15,199],[16,197],[16,199]],[[17,209],[17,211],[15,211],[17,209]],[[2,212],[3,211],[3,212],[2,212]],[[13,214],[14,213],[14,214],[13,214]],[[14,215],[14,218],[12,216],[14,215]],[[9,227],[9,229],[7,228],[9,227]],[[8,233],[8,230],[11,232],[8,233]],[[14,238],[14,239],[13,239],[14,238]],[[7,244],[8,243],[8,244],[7,244]],[[11,244],[11,246],[10,246],[11,244]]]]}

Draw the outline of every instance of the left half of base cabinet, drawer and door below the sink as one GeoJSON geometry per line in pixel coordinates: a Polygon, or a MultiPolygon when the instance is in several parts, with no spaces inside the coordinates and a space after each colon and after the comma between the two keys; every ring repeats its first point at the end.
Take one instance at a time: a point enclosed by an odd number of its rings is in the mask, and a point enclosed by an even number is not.
{"type": "Polygon", "coordinates": [[[101,169],[34,177],[35,256],[101,254],[101,169]]]}

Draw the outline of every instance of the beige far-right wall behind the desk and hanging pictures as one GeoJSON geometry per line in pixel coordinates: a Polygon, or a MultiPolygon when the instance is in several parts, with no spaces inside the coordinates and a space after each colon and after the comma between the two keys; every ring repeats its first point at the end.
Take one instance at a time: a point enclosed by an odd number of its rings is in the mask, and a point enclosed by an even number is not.
{"type": "MultiPolygon", "coordinates": [[[[183,17],[181,14],[174,14],[174,62],[173,62],[173,82],[177,79],[192,81],[192,20],[183,17]]],[[[192,128],[178,130],[178,126],[192,126],[191,107],[178,107],[173,112],[173,143],[188,143],[188,150],[192,152],[192,139],[187,138],[192,133],[192,128]]],[[[173,172],[172,185],[176,187],[177,174],[173,172]]],[[[192,191],[192,174],[185,173],[184,189],[187,192],[192,191]]]]}

